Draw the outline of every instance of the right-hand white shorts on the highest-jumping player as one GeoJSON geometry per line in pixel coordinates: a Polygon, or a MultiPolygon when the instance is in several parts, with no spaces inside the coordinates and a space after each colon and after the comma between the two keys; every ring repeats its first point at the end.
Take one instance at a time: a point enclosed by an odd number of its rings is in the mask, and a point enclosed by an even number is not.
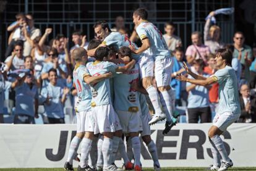
{"type": "Polygon", "coordinates": [[[173,60],[171,57],[155,60],[155,80],[156,86],[168,86],[171,83],[171,73],[173,60]]]}

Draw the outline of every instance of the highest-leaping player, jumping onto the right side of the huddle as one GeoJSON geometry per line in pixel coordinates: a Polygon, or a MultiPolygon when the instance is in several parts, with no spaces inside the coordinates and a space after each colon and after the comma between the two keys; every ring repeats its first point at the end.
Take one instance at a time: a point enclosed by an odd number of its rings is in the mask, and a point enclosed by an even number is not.
{"type": "MultiPolygon", "coordinates": [[[[153,124],[166,118],[165,129],[163,131],[165,134],[177,122],[177,116],[174,117],[173,115],[172,101],[174,99],[171,98],[173,91],[169,86],[173,62],[161,31],[147,21],[147,10],[142,8],[137,9],[134,11],[132,17],[135,27],[137,26],[136,31],[142,41],[142,46],[139,49],[135,49],[132,46],[130,48],[133,49],[135,54],[145,52],[145,54],[148,54],[148,56],[153,57],[155,60],[155,80],[158,90],[153,86],[153,75],[151,77],[145,77],[142,80],[142,85],[147,90],[156,113],[149,123],[153,124]],[[160,91],[159,94],[158,91],[160,91]],[[161,110],[161,106],[163,106],[166,114],[161,110]]],[[[153,73],[153,67],[151,67],[151,70],[151,73],[153,73]]]]}

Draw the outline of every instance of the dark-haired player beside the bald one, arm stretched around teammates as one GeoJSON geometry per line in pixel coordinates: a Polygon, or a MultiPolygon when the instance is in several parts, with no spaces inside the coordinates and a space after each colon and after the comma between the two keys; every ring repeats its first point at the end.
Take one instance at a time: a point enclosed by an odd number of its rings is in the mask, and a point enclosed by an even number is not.
{"type": "MultiPolygon", "coordinates": [[[[95,62],[89,62],[87,64],[87,69],[90,75],[101,75],[106,72],[126,72],[131,69],[135,60],[129,62],[129,64],[120,67],[116,64],[108,61],[103,61],[104,58],[108,57],[109,49],[106,47],[97,48],[95,51],[95,62]]],[[[85,78],[86,79],[86,78],[85,78]]],[[[86,80],[85,80],[86,81],[86,80]]],[[[109,79],[102,80],[98,83],[91,85],[92,90],[92,111],[93,116],[95,117],[95,134],[101,133],[104,136],[103,144],[102,144],[102,152],[103,152],[103,161],[104,166],[103,170],[117,170],[115,165],[112,165],[111,157],[114,149],[118,148],[119,140],[121,139],[119,136],[120,133],[122,135],[122,128],[117,117],[116,112],[114,112],[112,102],[111,102],[111,94],[109,88],[109,79]],[[114,141],[114,133],[118,136],[114,141]],[[119,139],[120,138],[120,139],[119,139]],[[113,143],[117,144],[113,146],[113,143]]],[[[116,149],[117,150],[117,149],[116,149]]]]}

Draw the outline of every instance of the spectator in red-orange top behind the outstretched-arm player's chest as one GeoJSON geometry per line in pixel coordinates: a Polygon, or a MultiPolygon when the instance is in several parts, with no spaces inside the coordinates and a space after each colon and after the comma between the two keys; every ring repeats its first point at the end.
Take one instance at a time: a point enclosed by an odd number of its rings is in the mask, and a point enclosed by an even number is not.
{"type": "MultiPolygon", "coordinates": [[[[207,56],[207,66],[203,69],[203,72],[207,73],[208,75],[213,75],[213,73],[216,72],[216,64],[215,64],[215,55],[209,54],[207,56]]],[[[211,112],[215,112],[216,107],[218,106],[218,90],[219,90],[219,84],[214,83],[211,85],[211,88],[209,90],[209,101],[210,101],[210,107],[211,112]]]]}

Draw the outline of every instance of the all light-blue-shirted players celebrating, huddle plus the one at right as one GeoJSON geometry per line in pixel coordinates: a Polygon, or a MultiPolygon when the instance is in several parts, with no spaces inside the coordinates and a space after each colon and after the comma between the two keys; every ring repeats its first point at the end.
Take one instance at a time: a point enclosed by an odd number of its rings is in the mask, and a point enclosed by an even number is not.
{"type": "MultiPolygon", "coordinates": [[[[121,33],[111,31],[107,22],[99,21],[94,25],[98,39],[90,41],[88,51],[83,48],[72,51],[75,61],[73,79],[79,97],[75,105],[77,134],[70,143],[64,169],[74,170],[72,161],[77,157],[81,143],[77,170],[120,170],[114,164],[117,151],[124,160],[123,169],[142,170],[140,134],[147,144],[154,169],[161,170],[155,143],[150,138],[150,125],[166,119],[163,130],[166,134],[176,125],[179,114],[175,111],[175,95],[169,86],[173,65],[171,54],[161,32],[147,21],[147,15],[147,10],[142,8],[133,14],[136,32],[142,41],[140,48],[121,33]],[[152,118],[144,94],[148,94],[155,110],[152,118]],[[127,152],[123,136],[130,148],[127,152]]],[[[216,114],[218,117],[209,130],[214,158],[210,169],[226,170],[233,162],[220,135],[239,117],[240,108],[236,75],[229,67],[231,52],[220,49],[215,60],[219,70],[213,77],[196,75],[184,64],[187,73],[195,80],[182,75],[176,78],[203,86],[220,83],[220,105],[224,108],[216,114]]]]}

